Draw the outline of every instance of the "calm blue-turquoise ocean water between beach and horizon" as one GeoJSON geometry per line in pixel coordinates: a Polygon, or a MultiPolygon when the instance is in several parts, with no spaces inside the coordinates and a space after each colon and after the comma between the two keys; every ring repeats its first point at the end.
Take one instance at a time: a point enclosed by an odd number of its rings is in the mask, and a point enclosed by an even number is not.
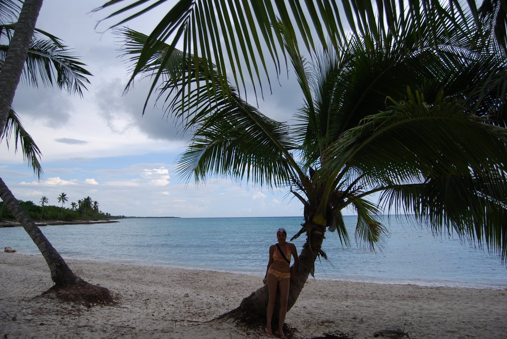
{"type": "MultiPolygon", "coordinates": [[[[263,276],[276,230],[296,234],[301,217],[132,218],[117,223],[45,226],[41,230],[64,258],[227,271],[263,276]]],[[[390,236],[382,252],[354,241],[354,216],[345,222],[352,241],[341,245],[327,232],[315,279],[387,284],[507,289],[507,269],[497,256],[457,237],[433,236],[405,219],[385,219],[390,236]],[[387,221],[389,220],[389,222],[387,221]]],[[[294,243],[304,244],[302,236],[294,243]]],[[[41,255],[21,227],[0,228],[0,248],[41,255]]],[[[310,277],[310,279],[313,279],[310,277]]]]}

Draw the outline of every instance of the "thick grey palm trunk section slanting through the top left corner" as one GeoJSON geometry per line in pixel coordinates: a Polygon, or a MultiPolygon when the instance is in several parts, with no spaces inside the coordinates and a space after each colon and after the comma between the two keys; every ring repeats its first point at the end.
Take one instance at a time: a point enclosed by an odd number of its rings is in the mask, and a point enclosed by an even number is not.
{"type": "Polygon", "coordinates": [[[25,0],[4,66],[0,72],[0,136],[4,132],[14,94],[21,79],[21,72],[23,71],[42,2],[43,0],[25,0]]]}

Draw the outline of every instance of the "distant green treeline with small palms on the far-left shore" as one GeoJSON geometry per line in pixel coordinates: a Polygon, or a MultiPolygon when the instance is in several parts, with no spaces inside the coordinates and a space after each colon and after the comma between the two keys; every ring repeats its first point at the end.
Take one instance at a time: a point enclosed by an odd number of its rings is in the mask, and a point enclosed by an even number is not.
{"type": "MultiPolygon", "coordinates": [[[[61,206],[53,205],[35,205],[32,201],[18,200],[23,209],[30,215],[34,221],[39,220],[104,220],[104,219],[116,219],[117,216],[113,216],[110,213],[104,213],[97,207],[98,204],[89,204],[89,197],[80,200],[79,205],[73,204],[73,207],[66,208],[61,206]]],[[[7,207],[4,207],[4,202],[0,202],[0,220],[15,220],[12,213],[7,207]]]]}

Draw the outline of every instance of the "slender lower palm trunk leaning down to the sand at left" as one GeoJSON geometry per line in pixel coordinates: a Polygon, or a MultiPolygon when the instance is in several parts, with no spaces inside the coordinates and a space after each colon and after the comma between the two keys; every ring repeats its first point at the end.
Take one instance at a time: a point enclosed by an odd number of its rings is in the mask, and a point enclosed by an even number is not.
{"type": "Polygon", "coordinates": [[[26,213],[19,202],[12,194],[9,187],[2,178],[0,178],[0,198],[4,201],[4,204],[15,216],[16,220],[25,229],[26,233],[33,240],[35,245],[41,251],[46,263],[51,271],[51,279],[55,283],[56,287],[68,286],[82,282],[82,279],[70,270],[67,263],[63,260],[61,255],[51,245],[49,240],[44,236],[41,230],[35,225],[35,222],[26,213]]]}

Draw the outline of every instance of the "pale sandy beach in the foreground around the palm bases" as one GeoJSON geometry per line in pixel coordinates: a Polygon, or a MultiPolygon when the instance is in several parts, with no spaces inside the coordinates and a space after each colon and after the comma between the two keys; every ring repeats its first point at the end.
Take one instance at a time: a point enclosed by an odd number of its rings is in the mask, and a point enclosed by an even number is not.
{"type": "MultiPolygon", "coordinates": [[[[52,286],[41,256],[0,253],[1,338],[264,338],[214,318],[236,308],[262,277],[67,260],[86,281],[120,297],[116,307],[40,297],[52,286]]],[[[286,323],[297,338],[340,330],[355,339],[405,326],[412,337],[505,338],[507,290],[310,279],[286,323]]]]}

